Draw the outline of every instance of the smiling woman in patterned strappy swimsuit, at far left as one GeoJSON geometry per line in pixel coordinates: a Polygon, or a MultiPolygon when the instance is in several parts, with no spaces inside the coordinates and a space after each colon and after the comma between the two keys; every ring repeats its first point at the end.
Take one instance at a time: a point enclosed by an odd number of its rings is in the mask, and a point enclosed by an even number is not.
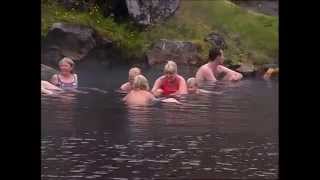
{"type": "Polygon", "coordinates": [[[74,62],[68,57],[59,61],[60,72],[51,78],[51,83],[63,89],[76,89],[78,87],[78,77],[74,73],[74,62]]]}

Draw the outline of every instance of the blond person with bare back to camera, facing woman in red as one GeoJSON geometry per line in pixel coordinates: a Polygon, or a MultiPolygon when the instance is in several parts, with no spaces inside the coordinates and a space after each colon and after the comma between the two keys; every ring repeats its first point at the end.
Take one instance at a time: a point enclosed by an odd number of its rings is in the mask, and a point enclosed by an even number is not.
{"type": "Polygon", "coordinates": [[[155,101],[173,102],[180,104],[174,98],[159,100],[149,92],[149,83],[143,75],[137,75],[132,84],[132,90],[123,98],[128,105],[150,105],[155,101]]]}

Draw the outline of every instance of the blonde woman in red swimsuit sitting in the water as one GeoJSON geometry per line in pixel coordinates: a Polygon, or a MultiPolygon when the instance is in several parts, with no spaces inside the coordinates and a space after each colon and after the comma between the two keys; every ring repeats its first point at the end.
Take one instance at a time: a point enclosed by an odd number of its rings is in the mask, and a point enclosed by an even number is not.
{"type": "Polygon", "coordinates": [[[155,81],[152,93],[156,97],[187,94],[186,81],[178,74],[177,64],[174,61],[168,61],[164,66],[164,75],[155,81]]]}

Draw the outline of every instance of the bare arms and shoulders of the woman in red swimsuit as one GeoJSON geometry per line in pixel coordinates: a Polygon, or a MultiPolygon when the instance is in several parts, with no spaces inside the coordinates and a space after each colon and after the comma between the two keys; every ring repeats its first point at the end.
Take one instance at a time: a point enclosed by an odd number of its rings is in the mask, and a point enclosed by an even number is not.
{"type": "Polygon", "coordinates": [[[170,80],[174,80],[175,77],[177,77],[177,78],[180,79],[178,91],[176,91],[175,93],[170,94],[170,96],[180,96],[180,95],[182,95],[182,94],[187,94],[187,93],[188,93],[188,92],[187,92],[187,84],[186,84],[186,81],[185,81],[185,79],[184,79],[182,76],[180,76],[180,75],[178,75],[178,74],[165,74],[165,75],[159,77],[159,78],[155,81],[155,83],[154,83],[154,85],[153,85],[153,88],[152,88],[152,90],[151,90],[151,92],[152,92],[156,97],[159,97],[159,96],[162,95],[162,92],[163,92],[163,91],[162,91],[162,89],[160,89],[160,86],[161,86],[161,81],[162,81],[162,79],[165,78],[165,77],[167,77],[167,78],[169,79],[169,81],[170,81],[170,80]]]}

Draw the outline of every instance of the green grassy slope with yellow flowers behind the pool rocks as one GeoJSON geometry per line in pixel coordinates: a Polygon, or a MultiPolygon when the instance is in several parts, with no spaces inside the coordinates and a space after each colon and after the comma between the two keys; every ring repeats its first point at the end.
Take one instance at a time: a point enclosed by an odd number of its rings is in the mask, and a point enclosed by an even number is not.
{"type": "Polygon", "coordinates": [[[54,22],[88,25],[112,39],[126,57],[142,57],[150,45],[162,38],[192,41],[207,57],[209,44],[203,39],[211,32],[226,40],[227,63],[251,61],[272,63],[278,57],[278,17],[244,10],[227,0],[181,0],[176,14],[163,23],[139,31],[130,22],[115,23],[103,17],[99,8],[90,13],[67,11],[52,1],[42,3],[42,35],[54,22]]]}

